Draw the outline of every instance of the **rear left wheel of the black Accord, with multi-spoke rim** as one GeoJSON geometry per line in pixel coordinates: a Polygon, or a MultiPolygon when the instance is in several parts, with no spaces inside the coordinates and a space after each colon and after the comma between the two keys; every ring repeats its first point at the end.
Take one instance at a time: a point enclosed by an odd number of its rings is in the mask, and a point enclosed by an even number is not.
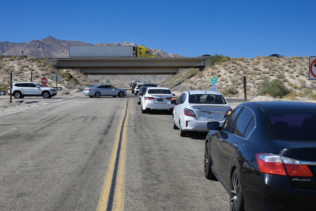
{"type": "Polygon", "coordinates": [[[244,210],[244,195],[239,183],[239,175],[237,169],[234,170],[229,187],[229,201],[231,211],[243,211],[244,210]]]}

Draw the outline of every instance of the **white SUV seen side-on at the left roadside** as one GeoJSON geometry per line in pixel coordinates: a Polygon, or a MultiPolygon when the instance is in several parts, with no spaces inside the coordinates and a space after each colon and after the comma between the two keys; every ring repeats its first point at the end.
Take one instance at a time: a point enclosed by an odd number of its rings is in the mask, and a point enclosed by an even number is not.
{"type": "MultiPolygon", "coordinates": [[[[8,95],[10,95],[10,88],[8,95]]],[[[43,87],[34,82],[17,82],[13,83],[12,95],[15,98],[23,98],[25,96],[42,96],[44,98],[51,98],[56,95],[56,90],[50,87],[43,87]]]]}

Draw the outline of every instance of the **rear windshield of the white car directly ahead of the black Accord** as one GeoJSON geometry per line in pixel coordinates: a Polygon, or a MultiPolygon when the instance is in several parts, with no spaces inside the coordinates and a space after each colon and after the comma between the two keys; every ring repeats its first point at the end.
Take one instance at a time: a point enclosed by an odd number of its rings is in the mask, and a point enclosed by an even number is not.
{"type": "Polygon", "coordinates": [[[221,95],[196,94],[189,96],[189,103],[197,104],[226,104],[226,101],[221,95]]]}

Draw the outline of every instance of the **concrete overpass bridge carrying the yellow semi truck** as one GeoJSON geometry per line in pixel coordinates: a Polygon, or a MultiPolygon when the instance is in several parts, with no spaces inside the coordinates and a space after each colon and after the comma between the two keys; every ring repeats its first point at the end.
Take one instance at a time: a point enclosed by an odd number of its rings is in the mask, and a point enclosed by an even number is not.
{"type": "Polygon", "coordinates": [[[155,75],[176,74],[188,68],[203,70],[208,67],[207,57],[156,57],[156,58],[86,58],[37,57],[53,60],[58,69],[74,69],[87,75],[155,75]]]}

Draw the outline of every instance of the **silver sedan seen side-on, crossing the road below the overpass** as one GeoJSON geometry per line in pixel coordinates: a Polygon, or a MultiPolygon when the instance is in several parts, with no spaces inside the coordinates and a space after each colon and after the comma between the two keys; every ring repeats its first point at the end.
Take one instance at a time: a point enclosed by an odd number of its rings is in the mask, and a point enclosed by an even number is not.
{"type": "Polygon", "coordinates": [[[93,86],[89,86],[83,89],[83,95],[87,95],[89,97],[100,97],[100,96],[119,96],[124,97],[127,95],[126,90],[118,89],[114,86],[107,84],[97,84],[93,86]]]}

